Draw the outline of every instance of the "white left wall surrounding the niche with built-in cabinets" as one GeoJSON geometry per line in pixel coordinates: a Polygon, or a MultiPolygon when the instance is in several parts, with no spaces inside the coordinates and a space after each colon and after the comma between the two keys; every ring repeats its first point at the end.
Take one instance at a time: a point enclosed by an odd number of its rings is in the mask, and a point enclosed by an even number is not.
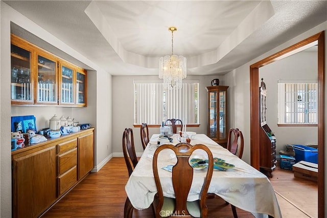
{"type": "Polygon", "coordinates": [[[73,48],[33,23],[27,17],[1,2],[1,66],[0,66],[0,217],[11,217],[11,116],[35,115],[37,128],[49,126],[49,119],[57,114],[71,116],[80,122],[91,123],[95,132],[95,168],[99,170],[111,157],[111,75],[99,68],[73,48]],[[76,58],[89,67],[87,107],[10,106],[10,22],[36,35],[50,45],[76,58]],[[92,71],[90,71],[90,69],[92,71]],[[8,73],[9,72],[9,73],[8,73]]]}

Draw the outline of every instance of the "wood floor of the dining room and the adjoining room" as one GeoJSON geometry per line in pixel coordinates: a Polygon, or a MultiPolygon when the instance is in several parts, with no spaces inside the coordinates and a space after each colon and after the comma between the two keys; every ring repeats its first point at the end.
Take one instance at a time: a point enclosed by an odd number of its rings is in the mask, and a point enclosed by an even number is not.
{"type": "MultiPolygon", "coordinates": [[[[310,217],[310,212],[302,212],[287,200],[291,199],[292,194],[285,196],[285,193],[301,190],[303,198],[308,197],[305,193],[307,188],[301,188],[300,184],[290,184],[288,179],[293,176],[292,171],[274,170],[271,183],[279,192],[276,194],[279,206],[281,207],[284,218],[288,217],[310,217]],[[293,186],[290,188],[290,186],[293,186]],[[284,191],[283,191],[284,190],[284,191]],[[309,214],[309,215],[306,215],[309,214]]],[[[57,204],[48,210],[42,217],[123,217],[124,203],[126,200],[125,184],[128,180],[128,172],[124,158],[112,158],[99,172],[90,173],[73,190],[66,194],[57,204]]],[[[303,181],[302,181],[303,182],[303,181]]],[[[304,185],[307,186],[307,181],[304,185]]],[[[302,185],[303,185],[302,184],[302,185]]],[[[315,182],[309,184],[312,192],[315,182]]],[[[296,193],[296,192],[294,192],[296,193]]],[[[297,196],[296,194],[293,196],[297,196]]],[[[311,197],[312,200],[313,197],[311,197]]],[[[296,198],[295,198],[296,199],[296,198]]],[[[316,198],[317,201],[318,198],[316,198]]],[[[310,201],[311,201],[310,200],[310,201]]],[[[230,205],[225,205],[225,201],[220,198],[208,199],[208,217],[233,217],[230,205]]],[[[247,211],[237,208],[239,217],[253,217],[247,211]]],[[[146,218],[153,217],[152,210],[134,210],[133,217],[146,218]]],[[[317,216],[312,216],[317,217],[317,216]]]]}

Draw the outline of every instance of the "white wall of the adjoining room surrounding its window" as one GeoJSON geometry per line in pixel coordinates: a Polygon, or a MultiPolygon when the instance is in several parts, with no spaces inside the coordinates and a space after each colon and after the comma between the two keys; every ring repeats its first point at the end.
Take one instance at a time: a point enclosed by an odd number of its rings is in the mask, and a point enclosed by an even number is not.
{"type": "MultiPolygon", "coordinates": [[[[294,54],[260,68],[260,79],[267,87],[267,124],[276,136],[276,152],[285,149],[286,144],[318,144],[317,126],[277,126],[277,83],[278,80],[318,80],[318,54],[306,52],[294,54]]],[[[282,81],[283,82],[283,81],[282,81]]]]}

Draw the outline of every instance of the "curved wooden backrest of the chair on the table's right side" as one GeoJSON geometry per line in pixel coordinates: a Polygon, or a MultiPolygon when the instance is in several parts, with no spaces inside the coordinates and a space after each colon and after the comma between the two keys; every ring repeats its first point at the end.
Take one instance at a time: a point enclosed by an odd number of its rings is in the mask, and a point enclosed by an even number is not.
{"type": "Polygon", "coordinates": [[[244,149],[244,138],[242,132],[238,128],[230,128],[227,138],[227,149],[231,154],[242,158],[244,149]],[[233,139],[232,139],[232,136],[233,139]]]}

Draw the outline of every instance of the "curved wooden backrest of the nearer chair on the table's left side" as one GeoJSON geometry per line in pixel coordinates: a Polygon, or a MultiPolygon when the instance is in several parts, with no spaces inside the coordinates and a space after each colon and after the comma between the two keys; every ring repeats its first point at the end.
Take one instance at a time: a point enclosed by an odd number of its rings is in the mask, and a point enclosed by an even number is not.
{"type": "Polygon", "coordinates": [[[138,162],[134,147],[133,129],[131,128],[125,128],[123,133],[123,153],[128,169],[128,177],[130,177],[138,162]]]}

